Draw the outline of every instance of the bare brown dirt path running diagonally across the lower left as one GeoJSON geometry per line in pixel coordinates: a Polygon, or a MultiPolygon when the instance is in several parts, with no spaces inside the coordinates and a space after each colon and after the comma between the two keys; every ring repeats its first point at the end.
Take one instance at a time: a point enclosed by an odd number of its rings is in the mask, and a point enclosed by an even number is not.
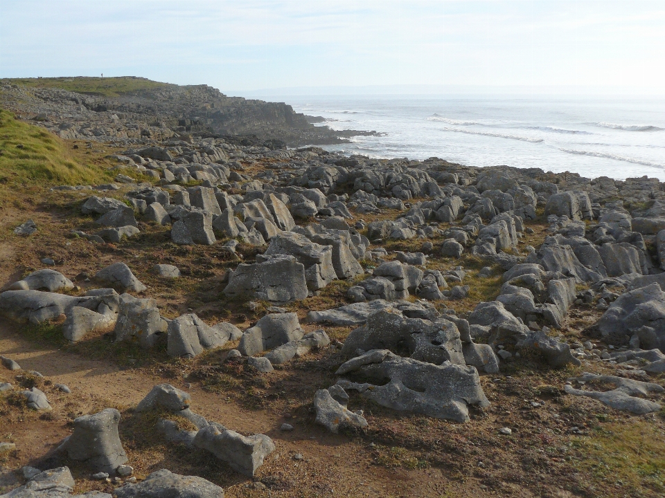
{"type": "MultiPolygon", "coordinates": [[[[64,411],[60,412],[67,413],[67,409],[76,407],[71,416],[87,413],[105,403],[119,407],[136,405],[153,385],[166,382],[139,369],[121,369],[109,362],[82,358],[49,347],[35,347],[20,337],[19,329],[13,324],[0,325],[0,354],[16,360],[24,370],[39,371],[53,384],[68,385],[72,389],[71,395],[60,394],[55,389],[47,394],[54,407],[64,407],[64,411]]],[[[0,378],[10,378],[10,372],[3,371],[0,378]]],[[[348,496],[446,496],[445,492],[454,492],[461,486],[460,483],[445,481],[437,469],[389,470],[373,465],[366,445],[347,436],[328,434],[322,428],[311,424],[300,425],[292,420],[295,430],[281,432],[280,425],[287,421],[285,414],[271,410],[249,411],[224,394],[203,391],[183,380],[169,382],[188,391],[193,400],[192,409],[209,420],[223,423],[238,432],[260,432],[274,439],[277,450],[267,458],[257,477],[281,475],[289,483],[289,489],[281,492],[272,490],[271,496],[298,496],[305,490],[320,496],[337,495],[338,492],[348,496]],[[295,454],[303,455],[303,460],[295,460],[295,454]]],[[[17,459],[10,462],[12,468],[43,457],[69,434],[67,421],[60,417],[51,420],[42,416],[24,424],[20,419],[3,419],[4,422],[0,422],[1,436],[6,436],[10,429],[12,441],[19,448],[17,459]],[[2,427],[8,422],[11,427],[2,427]]],[[[229,497],[268,496],[267,490],[247,487],[248,483],[251,479],[236,475],[231,482],[222,485],[229,497]]],[[[468,481],[463,488],[465,493],[475,488],[475,496],[484,495],[481,488],[468,481]]],[[[306,495],[309,493],[305,492],[306,495]]]]}

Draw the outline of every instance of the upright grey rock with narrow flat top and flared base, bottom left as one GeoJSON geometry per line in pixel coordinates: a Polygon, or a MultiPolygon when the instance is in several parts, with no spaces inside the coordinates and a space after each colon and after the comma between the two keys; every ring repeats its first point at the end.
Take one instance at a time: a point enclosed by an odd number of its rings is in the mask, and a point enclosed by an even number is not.
{"type": "Polygon", "coordinates": [[[107,408],[94,415],[74,420],[74,432],[62,442],[58,452],[82,461],[95,472],[113,474],[118,465],[127,461],[127,454],[118,435],[120,412],[107,408]]]}

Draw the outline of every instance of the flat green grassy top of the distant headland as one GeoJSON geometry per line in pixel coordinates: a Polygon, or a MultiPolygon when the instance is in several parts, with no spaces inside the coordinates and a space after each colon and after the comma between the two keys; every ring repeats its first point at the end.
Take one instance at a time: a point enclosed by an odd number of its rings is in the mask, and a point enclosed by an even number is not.
{"type": "Polygon", "coordinates": [[[154,90],[172,86],[143,77],[53,77],[53,78],[3,78],[3,82],[30,88],[59,88],[100,97],[118,97],[141,90],[154,90]]]}

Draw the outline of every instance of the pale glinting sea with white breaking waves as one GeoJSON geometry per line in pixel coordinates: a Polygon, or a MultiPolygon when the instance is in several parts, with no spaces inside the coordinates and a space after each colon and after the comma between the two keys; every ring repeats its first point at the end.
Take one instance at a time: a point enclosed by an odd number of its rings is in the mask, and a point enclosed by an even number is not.
{"type": "MultiPolygon", "coordinates": [[[[274,97],[271,100],[275,100],[274,97]]],[[[379,158],[540,167],[588,178],[665,181],[665,100],[284,97],[332,129],[374,130],[324,147],[379,158]]]]}

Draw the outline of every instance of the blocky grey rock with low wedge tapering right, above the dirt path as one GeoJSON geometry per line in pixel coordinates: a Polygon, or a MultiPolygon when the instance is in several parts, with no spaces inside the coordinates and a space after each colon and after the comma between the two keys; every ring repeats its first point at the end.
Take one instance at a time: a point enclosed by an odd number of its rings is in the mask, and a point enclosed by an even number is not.
{"type": "Polygon", "coordinates": [[[227,335],[208,326],[194,313],[181,315],[168,324],[168,346],[170,356],[192,358],[204,349],[226,344],[227,335]]]}

